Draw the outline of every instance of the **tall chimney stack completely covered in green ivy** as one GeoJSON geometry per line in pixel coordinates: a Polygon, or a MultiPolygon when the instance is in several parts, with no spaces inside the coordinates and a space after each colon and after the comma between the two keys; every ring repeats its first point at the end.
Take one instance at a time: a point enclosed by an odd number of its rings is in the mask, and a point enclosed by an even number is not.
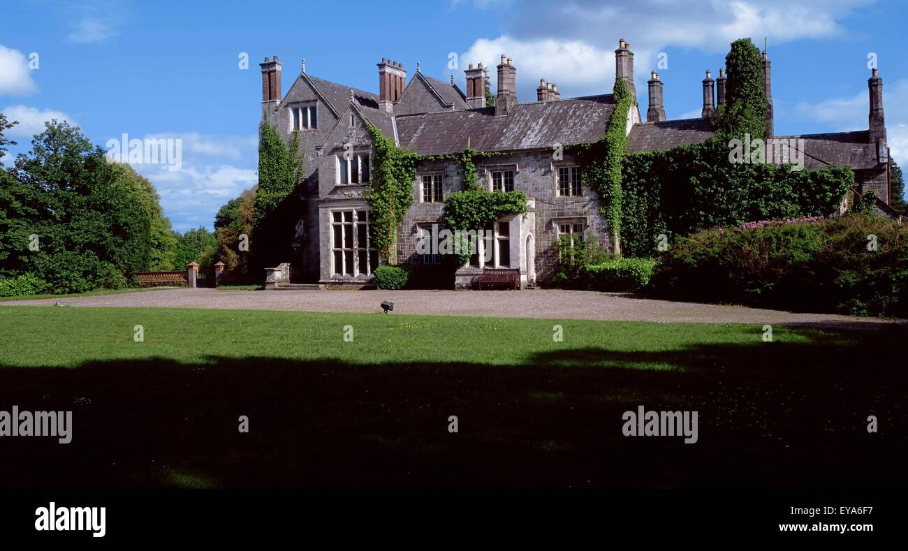
{"type": "Polygon", "coordinates": [[[766,130],[766,93],[763,87],[763,57],[750,38],[739,38],[725,55],[728,81],[725,108],[716,116],[716,130],[725,140],[763,139],[766,130]]]}

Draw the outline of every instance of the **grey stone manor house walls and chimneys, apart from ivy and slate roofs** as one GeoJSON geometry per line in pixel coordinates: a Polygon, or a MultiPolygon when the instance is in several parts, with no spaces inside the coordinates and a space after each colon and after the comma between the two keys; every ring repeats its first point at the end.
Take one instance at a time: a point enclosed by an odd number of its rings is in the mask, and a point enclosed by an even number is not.
{"type": "MultiPolygon", "coordinates": [[[[616,78],[637,95],[634,54],[621,40],[615,51],[616,78]]],[[[770,61],[763,53],[765,91],[770,99],[766,138],[773,138],[770,61]]],[[[558,144],[594,142],[606,132],[614,108],[610,93],[562,98],[556,84],[540,81],[537,98],[520,103],[516,93],[517,67],[504,55],[498,64],[498,93],[494,106],[486,105],[482,64],[469,65],[466,92],[454,78],[442,82],[419,70],[407,80],[402,64],[382,59],[378,64],[379,93],[351,89],[301,71],[290,90],[281,96],[282,63],[274,56],[262,67],[262,120],[274,125],[288,142],[300,135],[305,178],[299,188],[304,203],[297,224],[294,258],[288,259],[290,278],[321,285],[374,284],[372,272],[378,254],[370,243],[369,207],[364,199],[372,169],[372,137],[365,123],[380,129],[400,147],[421,155],[479,152],[503,153],[478,165],[479,182],[489,191],[519,190],[529,197],[528,214],[495,221],[483,248],[457,274],[457,285],[469,287],[489,268],[520,272],[521,286],[545,284],[556,264],[559,236],[586,234],[612,248],[607,222],[598,212],[597,192],[580,182],[580,167],[565,153],[556,160],[558,144]],[[344,153],[347,152],[345,155],[344,153]],[[350,154],[351,153],[351,154],[350,154]],[[487,248],[491,251],[486,252],[487,248]],[[489,259],[487,261],[487,259],[489,259]]],[[[698,143],[713,136],[709,116],[725,103],[725,70],[703,81],[701,118],[666,120],[663,83],[652,73],[648,82],[646,123],[637,107],[627,115],[628,149],[661,150],[698,143]]],[[[848,133],[785,136],[803,141],[804,167],[854,167],[852,193],[876,192],[885,209],[890,200],[890,162],[883,120],[883,80],[873,69],[868,81],[868,130],[848,133]]],[[[780,136],[781,138],[782,136],[780,136]]],[[[414,202],[398,228],[398,261],[414,270],[430,271],[437,254],[422,254],[419,240],[429,239],[441,227],[443,201],[463,189],[459,167],[453,162],[421,162],[413,182],[414,202]]],[[[284,276],[286,277],[286,276],[284,276]]]]}

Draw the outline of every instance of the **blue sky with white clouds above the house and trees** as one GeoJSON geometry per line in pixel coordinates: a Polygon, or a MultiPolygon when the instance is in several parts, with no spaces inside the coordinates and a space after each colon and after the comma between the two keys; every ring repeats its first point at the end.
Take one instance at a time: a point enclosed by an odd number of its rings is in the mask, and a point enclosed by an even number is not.
{"type": "Polygon", "coordinates": [[[27,151],[50,118],[77,123],[103,147],[123,133],[179,138],[182,170],[136,166],[179,231],[211,229],[222,203],[255,184],[258,63],[275,54],[284,93],[303,57],[310,74],[377,92],[381,57],[410,75],[417,62],[444,80],[454,73],[463,88],[466,64],[494,65],[508,54],[520,100],[535,101],[540,78],[558,84],[562,97],[609,92],[623,37],[636,54],[644,113],[649,71],[666,54],[668,66],[658,70],[666,113],[682,118],[698,116],[700,81],[706,69],[716,76],[732,40],[768,37],[775,129],[789,134],[866,129],[873,53],[893,157],[908,166],[908,3],[897,0],[442,0],[380,9],[351,1],[11,0],[0,9],[0,110],[21,123],[11,153],[27,151]]]}

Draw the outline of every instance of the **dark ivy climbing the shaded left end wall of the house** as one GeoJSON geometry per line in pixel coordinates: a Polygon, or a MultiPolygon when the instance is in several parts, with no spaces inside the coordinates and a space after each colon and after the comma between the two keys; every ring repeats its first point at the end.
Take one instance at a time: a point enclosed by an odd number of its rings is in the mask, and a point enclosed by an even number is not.
{"type": "Polygon", "coordinates": [[[264,277],[264,269],[291,261],[292,239],[301,216],[301,199],[294,193],[302,177],[299,133],[289,146],[269,123],[262,123],[259,143],[259,185],[252,219],[252,275],[264,277]]]}

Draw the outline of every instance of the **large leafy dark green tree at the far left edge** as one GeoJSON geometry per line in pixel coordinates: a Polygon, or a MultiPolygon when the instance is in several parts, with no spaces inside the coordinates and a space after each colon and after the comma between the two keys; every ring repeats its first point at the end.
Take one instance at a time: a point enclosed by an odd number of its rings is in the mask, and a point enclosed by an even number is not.
{"type": "Polygon", "coordinates": [[[55,292],[80,292],[121,287],[151,266],[161,217],[153,185],[105,159],[77,127],[45,123],[4,180],[0,273],[33,272],[55,292]]]}

